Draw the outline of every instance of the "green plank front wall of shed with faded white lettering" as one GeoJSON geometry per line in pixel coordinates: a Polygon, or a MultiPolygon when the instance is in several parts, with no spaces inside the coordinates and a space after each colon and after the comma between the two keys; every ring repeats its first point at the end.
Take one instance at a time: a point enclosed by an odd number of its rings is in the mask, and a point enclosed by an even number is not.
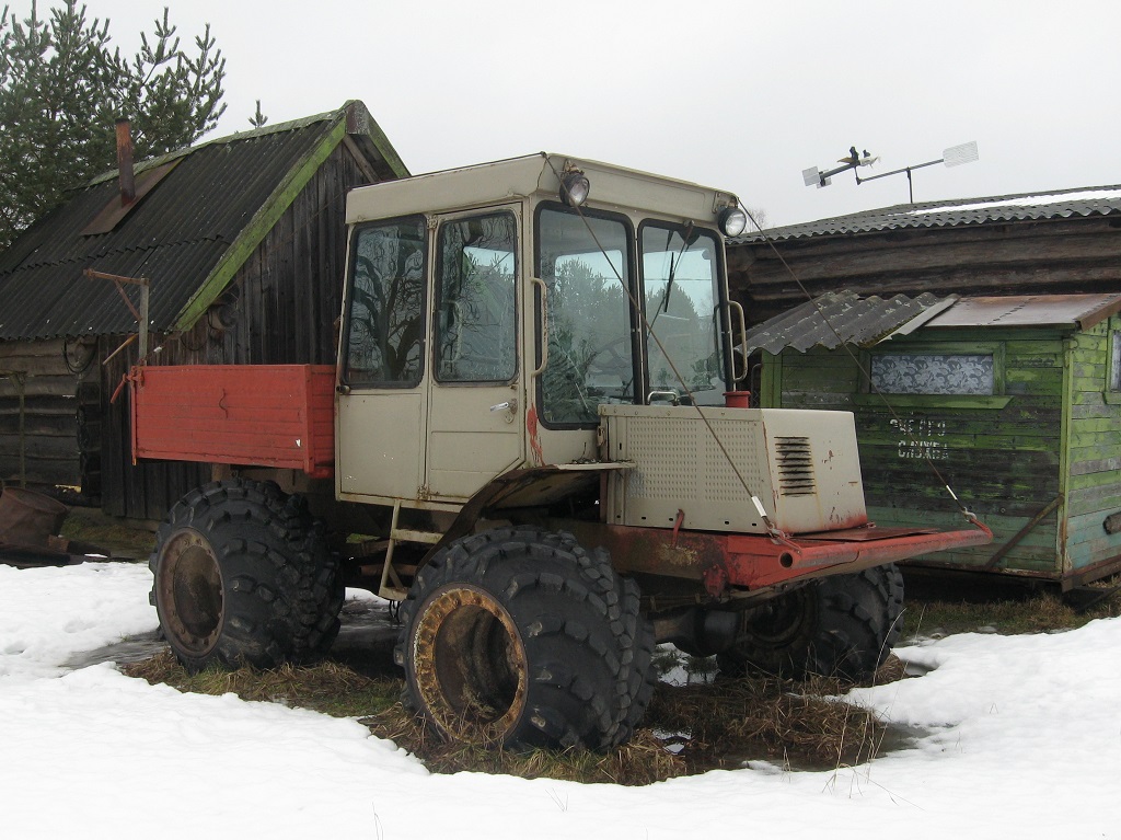
{"type": "MultiPolygon", "coordinates": [[[[864,393],[856,361],[843,351],[787,350],[765,361],[763,405],[855,414],[869,514],[880,525],[962,527],[948,483],[997,539],[924,561],[978,567],[1062,489],[1064,342],[1054,331],[986,331],[983,342],[978,331],[938,331],[937,342],[958,352],[969,352],[971,343],[995,347],[1003,360],[1002,396],[893,396],[889,409],[864,393]]],[[[891,350],[920,343],[935,345],[930,332],[893,340],[891,350]]],[[[1058,523],[1057,513],[1044,517],[998,567],[1060,573],[1058,523]]]]}

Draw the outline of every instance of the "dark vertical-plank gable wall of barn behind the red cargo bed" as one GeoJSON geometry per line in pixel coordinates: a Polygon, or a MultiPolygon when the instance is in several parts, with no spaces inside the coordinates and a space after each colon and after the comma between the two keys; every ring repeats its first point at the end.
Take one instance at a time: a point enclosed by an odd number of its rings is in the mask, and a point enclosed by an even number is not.
{"type": "MultiPolygon", "coordinates": [[[[345,268],[345,196],[367,183],[368,174],[341,145],[247,255],[226,293],[194,329],[154,340],[164,349],[152,363],[333,364],[333,324],[342,308],[345,268]]],[[[105,341],[102,352],[119,343],[105,341]]],[[[102,377],[103,508],[115,516],[159,519],[210,473],[197,464],[132,464],[128,395],[122,393],[112,406],[108,395],[135,362],[135,351],[121,353],[102,377]]]]}

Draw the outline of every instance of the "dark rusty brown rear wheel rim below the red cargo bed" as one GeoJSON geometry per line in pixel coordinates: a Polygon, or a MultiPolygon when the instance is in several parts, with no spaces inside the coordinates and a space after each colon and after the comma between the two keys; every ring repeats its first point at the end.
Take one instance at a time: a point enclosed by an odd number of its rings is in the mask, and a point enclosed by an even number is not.
{"type": "Polygon", "coordinates": [[[156,598],[165,631],[189,656],[205,656],[222,629],[222,570],[202,534],[184,528],[164,544],[156,598]]]}

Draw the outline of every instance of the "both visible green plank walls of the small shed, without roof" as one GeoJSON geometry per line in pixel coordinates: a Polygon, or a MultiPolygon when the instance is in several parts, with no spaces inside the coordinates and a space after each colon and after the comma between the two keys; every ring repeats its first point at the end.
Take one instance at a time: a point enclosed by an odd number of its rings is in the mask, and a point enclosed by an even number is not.
{"type": "Polygon", "coordinates": [[[843,350],[765,354],[761,403],[854,412],[869,513],[880,525],[961,527],[948,483],[993,529],[993,545],[927,563],[985,565],[1062,493],[1067,504],[997,566],[1059,576],[1121,554],[1121,535],[1102,526],[1121,511],[1121,394],[1108,388],[1115,330],[1118,319],[1074,334],[990,327],[893,340],[877,350],[992,352],[995,394],[893,396],[892,408],[868,393],[869,352],[858,351],[859,363],[843,350]]]}

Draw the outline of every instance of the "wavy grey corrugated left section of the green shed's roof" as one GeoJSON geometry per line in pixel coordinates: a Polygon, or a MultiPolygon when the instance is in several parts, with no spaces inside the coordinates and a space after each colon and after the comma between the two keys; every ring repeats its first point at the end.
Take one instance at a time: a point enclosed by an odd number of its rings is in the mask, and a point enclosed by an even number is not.
{"type": "Polygon", "coordinates": [[[748,330],[748,352],[778,354],[785,348],[805,352],[812,347],[828,350],[845,344],[868,347],[887,338],[926,313],[941,312],[954,298],[929,293],[911,298],[861,297],[854,292],[830,292],[789,312],[748,330]]]}

